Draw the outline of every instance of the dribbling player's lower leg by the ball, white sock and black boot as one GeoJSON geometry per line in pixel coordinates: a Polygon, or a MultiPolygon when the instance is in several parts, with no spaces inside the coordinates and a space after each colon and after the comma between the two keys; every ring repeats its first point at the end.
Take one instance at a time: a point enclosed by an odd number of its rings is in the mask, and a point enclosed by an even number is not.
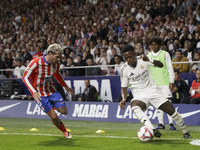
{"type": "Polygon", "coordinates": [[[155,137],[161,137],[162,134],[159,132],[158,129],[154,128],[148,116],[142,111],[142,109],[139,106],[133,106],[131,109],[133,110],[134,114],[136,115],[138,120],[140,120],[141,123],[153,129],[155,137]]]}

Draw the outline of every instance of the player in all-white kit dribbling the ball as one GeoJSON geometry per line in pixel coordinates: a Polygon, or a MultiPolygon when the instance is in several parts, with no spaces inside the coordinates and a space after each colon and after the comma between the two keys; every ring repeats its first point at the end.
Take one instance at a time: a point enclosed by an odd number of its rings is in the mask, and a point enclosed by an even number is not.
{"type": "Polygon", "coordinates": [[[142,55],[141,58],[136,58],[136,52],[134,47],[126,45],[122,49],[122,53],[126,60],[126,63],[120,68],[121,75],[121,94],[122,101],[120,102],[120,108],[124,110],[127,98],[127,85],[129,84],[130,90],[134,98],[131,100],[130,106],[138,120],[145,126],[149,126],[154,130],[156,137],[161,137],[161,133],[150,122],[144,111],[151,103],[154,107],[161,109],[168,115],[170,115],[176,124],[181,128],[184,138],[191,138],[190,134],[186,130],[183,118],[175,111],[173,105],[161,94],[157,85],[152,79],[149,67],[163,67],[160,61],[149,59],[146,55],[142,55]]]}

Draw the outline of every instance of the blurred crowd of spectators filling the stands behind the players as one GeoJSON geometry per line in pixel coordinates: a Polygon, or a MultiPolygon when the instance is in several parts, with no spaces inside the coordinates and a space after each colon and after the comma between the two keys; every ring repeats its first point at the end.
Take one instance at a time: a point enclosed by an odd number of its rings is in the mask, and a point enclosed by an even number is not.
{"type": "MultiPolygon", "coordinates": [[[[172,62],[200,61],[200,0],[1,0],[1,77],[21,78],[29,62],[46,54],[48,45],[63,48],[61,74],[118,74],[121,49],[134,46],[138,55],[151,52],[149,40],[163,40],[172,62]],[[114,65],[87,69],[74,66],[114,65]]],[[[196,72],[200,63],[173,64],[196,72]]]]}

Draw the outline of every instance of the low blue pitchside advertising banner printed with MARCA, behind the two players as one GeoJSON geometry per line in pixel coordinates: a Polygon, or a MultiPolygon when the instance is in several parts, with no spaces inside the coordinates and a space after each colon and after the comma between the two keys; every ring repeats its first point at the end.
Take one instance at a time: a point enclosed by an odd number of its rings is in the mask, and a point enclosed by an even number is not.
{"type": "MultiPolygon", "coordinates": [[[[49,119],[34,101],[1,100],[0,102],[0,117],[49,119]]],[[[129,103],[124,110],[119,108],[119,103],[66,102],[66,104],[67,115],[57,112],[58,117],[62,120],[139,123],[129,103]]],[[[186,125],[200,125],[199,105],[174,104],[174,107],[183,117],[186,125]]],[[[146,114],[153,124],[158,124],[156,109],[153,106],[149,107],[146,114]]],[[[166,114],[164,123],[169,124],[166,114]]]]}

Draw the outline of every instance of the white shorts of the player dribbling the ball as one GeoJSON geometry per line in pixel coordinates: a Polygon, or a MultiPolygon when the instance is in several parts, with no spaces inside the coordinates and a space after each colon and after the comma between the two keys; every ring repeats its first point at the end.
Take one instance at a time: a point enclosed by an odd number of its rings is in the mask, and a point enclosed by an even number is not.
{"type": "Polygon", "coordinates": [[[158,88],[151,88],[149,90],[145,89],[144,91],[141,90],[138,94],[134,94],[134,98],[131,102],[134,100],[144,102],[147,108],[150,104],[152,104],[155,108],[159,108],[163,103],[168,101],[158,88]]]}

